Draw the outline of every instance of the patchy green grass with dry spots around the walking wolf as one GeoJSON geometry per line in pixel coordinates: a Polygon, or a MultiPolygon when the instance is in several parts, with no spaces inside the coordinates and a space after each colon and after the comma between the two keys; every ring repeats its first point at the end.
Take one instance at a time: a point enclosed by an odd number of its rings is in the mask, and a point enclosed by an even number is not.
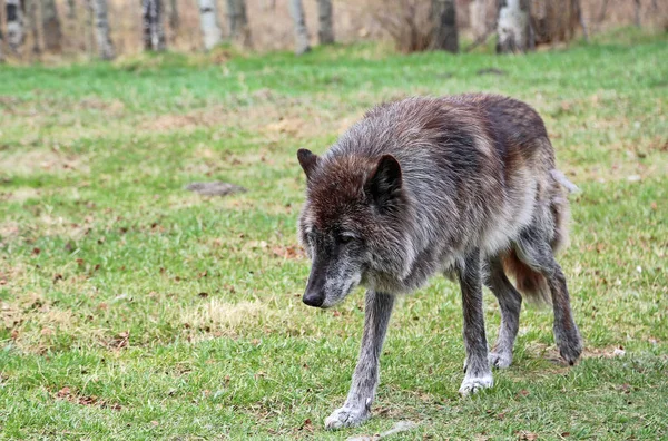
{"type": "Polygon", "coordinates": [[[0,67],[0,437],[345,439],[401,420],[420,425],[396,439],[668,437],[667,41],[0,67]],[[295,151],[381,100],[473,90],[538,108],[582,189],[560,261],[584,357],[556,362],[550,312],[524,308],[513,366],[460,399],[459,291],[436,277],[395,311],[374,418],[325,432],[363,295],[301,304],[295,151]],[[213,179],[248,192],[184,190],[213,179]]]}

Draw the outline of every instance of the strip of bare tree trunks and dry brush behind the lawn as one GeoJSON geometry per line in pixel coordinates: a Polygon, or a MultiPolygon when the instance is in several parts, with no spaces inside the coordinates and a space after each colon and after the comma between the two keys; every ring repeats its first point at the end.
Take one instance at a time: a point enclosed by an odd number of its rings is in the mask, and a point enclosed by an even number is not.
{"type": "Polygon", "coordinates": [[[588,38],[603,27],[668,28],[665,0],[0,0],[0,60],[141,50],[254,50],[391,39],[397,50],[499,52],[588,38]],[[471,41],[461,43],[462,40],[471,41]]]}

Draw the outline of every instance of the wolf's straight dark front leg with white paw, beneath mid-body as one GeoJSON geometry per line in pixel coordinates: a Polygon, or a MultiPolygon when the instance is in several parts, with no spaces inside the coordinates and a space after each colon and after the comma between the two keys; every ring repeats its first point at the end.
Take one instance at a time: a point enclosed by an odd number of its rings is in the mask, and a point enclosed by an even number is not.
{"type": "Polygon", "coordinates": [[[484,312],[482,308],[482,277],[480,253],[477,251],[460,265],[458,271],[462,290],[464,312],[464,349],[466,350],[466,372],[460,388],[462,395],[474,393],[494,384],[488,361],[487,337],[484,334],[484,312]]]}

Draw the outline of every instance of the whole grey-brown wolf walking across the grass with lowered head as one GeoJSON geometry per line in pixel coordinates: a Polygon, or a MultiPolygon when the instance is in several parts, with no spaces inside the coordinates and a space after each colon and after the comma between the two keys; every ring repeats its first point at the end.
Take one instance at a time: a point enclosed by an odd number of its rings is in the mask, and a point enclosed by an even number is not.
{"type": "Polygon", "coordinates": [[[478,94],[383,104],[324,155],[299,149],[297,158],[306,174],[298,236],[312,261],[304,303],[327,308],[357,285],[367,290],[351,390],[326,428],[370,418],[395,297],[435,273],[461,287],[462,395],[491,388],[491,366],[510,365],[520,293],[552,304],[561,356],[578,360],[580,333],[554,259],[568,239],[567,190],[574,186],[557,170],[544,124],[529,105],[478,94]],[[483,284],[501,310],[489,353],[483,284]]]}

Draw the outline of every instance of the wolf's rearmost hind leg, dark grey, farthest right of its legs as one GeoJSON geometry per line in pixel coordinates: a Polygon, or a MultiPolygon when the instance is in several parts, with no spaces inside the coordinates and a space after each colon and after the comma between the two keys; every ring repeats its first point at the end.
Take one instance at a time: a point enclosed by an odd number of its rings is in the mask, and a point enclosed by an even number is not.
{"type": "Polygon", "coordinates": [[[549,242],[539,232],[527,229],[515,242],[518,257],[548,281],[554,311],[554,342],[559,353],[569,364],[574,364],[582,353],[582,339],[573,320],[566,276],[557,263],[549,242]]]}

